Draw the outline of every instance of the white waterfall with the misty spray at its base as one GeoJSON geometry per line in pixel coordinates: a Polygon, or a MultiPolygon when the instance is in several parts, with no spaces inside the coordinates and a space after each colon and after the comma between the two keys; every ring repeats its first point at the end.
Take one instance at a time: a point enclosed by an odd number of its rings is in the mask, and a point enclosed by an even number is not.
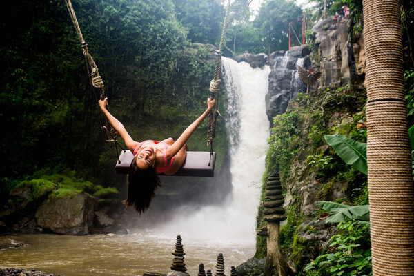
{"type": "Polygon", "coordinates": [[[198,241],[242,240],[244,244],[254,244],[269,137],[265,95],[270,68],[253,69],[246,62],[237,63],[225,57],[223,66],[233,192],[221,206],[206,206],[196,211],[193,206],[180,208],[157,232],[169,237],[180,233],[186,239],[198,241]]]}

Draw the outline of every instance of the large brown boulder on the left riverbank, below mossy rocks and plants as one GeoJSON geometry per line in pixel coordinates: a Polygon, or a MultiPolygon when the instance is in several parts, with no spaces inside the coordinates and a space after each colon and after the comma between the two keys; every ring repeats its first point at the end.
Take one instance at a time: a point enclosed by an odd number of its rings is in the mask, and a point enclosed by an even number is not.
{"type": "Polygon", "coordinates": [[[57,234],[87,235],[93,222],[97,199],[77,194],[50,199],[37,208],[37,224],[57,234]]]}

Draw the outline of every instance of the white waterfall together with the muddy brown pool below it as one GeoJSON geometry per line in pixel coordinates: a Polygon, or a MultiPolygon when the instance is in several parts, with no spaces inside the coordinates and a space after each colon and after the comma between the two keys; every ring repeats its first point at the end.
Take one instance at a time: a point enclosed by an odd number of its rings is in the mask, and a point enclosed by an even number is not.
{"type": "Polygon", "coordinates": [[[233,186],[226,206],[206,206],[196,212],[186,206],[176,212],[179,216],[175,219],[150,229],[128,229],[128,235],[3,236],[0,244],[28,246],[0,250],[0,267],[67,276],[167,273],[177,234],[183,239],[190,275],[197,275],[200,263],[214,274],[218,253],[224,255],[226,275],[230,275],[230,266],[253,257],[255,218],[269,137],[265,95],[270,68],[253,69],[248,63],[227,58],[223,58],[223,67],[233,186]]]}

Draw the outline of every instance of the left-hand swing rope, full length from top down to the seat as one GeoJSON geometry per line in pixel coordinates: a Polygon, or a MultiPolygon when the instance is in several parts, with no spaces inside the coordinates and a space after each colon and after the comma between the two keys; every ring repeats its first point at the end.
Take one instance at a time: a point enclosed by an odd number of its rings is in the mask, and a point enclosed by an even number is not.
{"type": "MultiPolygon", "coordinates": [[[[83,39],[81,28],[79,27],[79,23],[76,18],[75,10],[73,10],[73,7],[72,7],[72,2],[70,0],[65,0],[65,3],[66,3],[66,7],[68,8],[68,11],[70,14],[70,19],[72,20],[73,26],[75,26],[75,30],[78,34],[79,40],[81,41],[82,52],[83,52],[83,56],[85,57],[85,61],[86,61],[86,70],[88,71],[88,77],[89,77],[90,84],[92,86],[92,90],[94,90],[93,88],[95,88],[99,92],[100,99],[103,100],[105,99],[105,93],[103,90],[103,81],[102,81],[101,76],[99,75],[98,66],[96,65],[92,56],[89,54],[88,44],[83,39]],[[90,72],[90,69],[92,72],[90,72]]],[[[98,99],[97,99],[96,92],[93,94],[97,102],[98,99]]],[[[108,109],[108,111],[110,111],[108,106],[106,106],[106,108],[108,109]]],[[[106,126],[103,124],[101,112],[99,112],[99,120],[101,121],[101,130],[103,134],[103,140],[106,141],[107,143],[115,143],[115,150],[117,151],[117,156],[119,156],[118,146],[119,148],[121,148],[121,150],[124,150],[124,148],[122,148],[122,146],[117,141],[117,136],[118,136],[117,130],[115,130],[115,128],[112,128],[110,126],[108,119],[106,119],[106,126]]],[[[121,163],[121,161],[119,160],[119,157],[118,157],[118,163],[121,163]]]]}

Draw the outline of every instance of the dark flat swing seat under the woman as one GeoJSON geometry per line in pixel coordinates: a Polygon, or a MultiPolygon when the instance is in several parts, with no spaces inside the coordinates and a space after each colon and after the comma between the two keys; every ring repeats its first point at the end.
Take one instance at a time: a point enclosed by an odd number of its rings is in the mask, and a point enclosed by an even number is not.
{"type": "MultiPolygon", "coordinates": [[[[172,176],[188,176],[188,177],[213,177],[215,166],[216,152],[211,155],[210,152],[204,151],[188,151],[183,166],[172,176]]],[[[128,174],[134,155],[130,150],[122,150],[119,155],[119,161],[115,165],[115,170],[119,174],[128,174]]],[[[161,174],[164,175],[164,174],[161,174]]]]}

